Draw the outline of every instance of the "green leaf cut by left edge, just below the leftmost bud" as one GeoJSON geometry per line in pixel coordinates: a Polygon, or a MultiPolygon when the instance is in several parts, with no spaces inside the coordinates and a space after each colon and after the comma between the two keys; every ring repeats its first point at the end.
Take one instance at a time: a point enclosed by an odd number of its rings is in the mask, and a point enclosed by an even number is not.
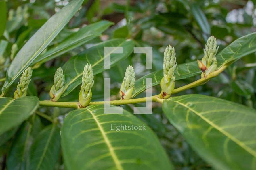
{"type": "Polygon", "coordinates": [[[0,98],[0,135],[21,124],[32,115],[39,106],[35,96],[26,96],[14,100],[13,98],[0,98]]]}

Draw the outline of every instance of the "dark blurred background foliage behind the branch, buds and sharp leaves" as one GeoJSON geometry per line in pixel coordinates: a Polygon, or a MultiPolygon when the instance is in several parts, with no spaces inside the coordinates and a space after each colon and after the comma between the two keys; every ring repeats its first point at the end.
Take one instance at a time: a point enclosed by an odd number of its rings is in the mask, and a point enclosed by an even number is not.
{"type": "MultiPolygon", "coordinates": [[[[1,2],[1,1],[0,1],[1,2]]],[[[7,1],[8,20],[6,31],[0,33],[0,86],[7,67],[18,50],[26,41],[63,6],[67,0],[16,0],[7,1]],[[16,44],[16,45],[14,45],[16,44]]],[[[0,7],[1,8],[1,7],[0,7]]],[[[64,65],[72,56],[90,48],[98,42],[112,38],[133,39],[136,46],[153,47],[153,69],[146,69],[144,54],[131,54],[121,63],[94,76],[92,101],[103,101],[103,77],[111,78],[112,99],[119,99],[119,88],[123,81],[125,69],[133,65],[136,79],[163,68],[163,52],[169,44],[175,47],[177,63],[202,59],[205,41],[211,35],[217,38],[219,51],[237,38],[256,31],[256,1],[244,0],[85,0],[82,7],[70,20],[48,47],[57,46],[66,36],[77,32],[93,22],[106,19],[115,23],[103,33],[86,44],[64,55],[33,66],[33,77],[28,88],[28,95],[38,96],[40,100],[49,99],[49,91],[55,70],[64,65]]],[[[175,94],[204,94],[234,101],[256,108],[256,57],[250,54],[228,67],[219,76],[205,85],[175,94]]],[[[181,87],[200,78],[200,75],[178,80],[175,87],[181,87]]],[[[18,80],[16,80],[18,82],[18,80]]],[[[12,97],[16,89],[14,83],[7,93],[12,97]]],[[[78,101],[80,87],[59,101],[78,101]]],[[[160,93],[160,86],[153,88],[153,93],[160,93]]],[[[144,97],[141,93],[138,97],[144,97]]],[[[134,106],[125,105],[132,111],[134,106]]],[[[60,114],[63,121],[67,108],[39,108],[47,114],[60,114]]],[[[167,121],[162,113],[161,104],[153,103],[152,115],[136,115],[146,122],[158,135],[176,169],[212,169],[188,145],[184,138],[167,121]]],[[[41,118],[39,128],[50,122],[41,118]]],[[[35,132],[36,133],[36,132],[35,132]]],[[[10,142],[12,139],[10,139],[10,142]]],[[[1,145],[1,142],[0,142],[1,145]]],[[[1,146],[1,155],[8,147],[1,146]]],[[[1,156],[1,162],[5,159],[1,156]]],[[[59,159],[55,169],[64,169],[59,159]]]]}

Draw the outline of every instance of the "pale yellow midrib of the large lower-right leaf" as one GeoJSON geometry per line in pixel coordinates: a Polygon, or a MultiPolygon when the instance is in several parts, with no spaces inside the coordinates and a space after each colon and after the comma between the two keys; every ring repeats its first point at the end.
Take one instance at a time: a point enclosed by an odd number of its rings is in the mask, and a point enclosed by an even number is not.
{"type": "MultiPolygon", "coordinates": [[[[173,101],[173,100],[172,100],[173,101]]],[[[202,116],[201,114],[199,114],[198,112],[196,112],[194,109],[188,107],[187,105],[184,105],[183,103],[180,103],[178,101],[174,101],[186,108],[188,108],[190,111],[194,112],[195,114],[197,114],[200,118],[202,118],[203,120],[205,120],[205,122],[207,122],[208,124],[210,124],[211,126],[213,126],[215,129],[217,129],[219,132],[221,132],[222,134],[224,134],[225,136],[227,136],[230,140],[232,140],[233,142],[235,142],[236,144],[238,144],[241,148],[243,148],[245,151],[247,151],[248,153],[250,153],[251,155],[253,155],[254,157],[256,157],[256,151],[254,151],[253,149],[251,149],[250,147],[246,146],[245,144],[243,144],[240,140],[238,140],[237,138],[235,138],[234,136],[232,136],[231,134],[229,134],[228,132],[226,132],[225,130],[221,129],[219,126],[217,126],[216,124],[214,124],[213,122],[211,122],[210,120],[208,120],[207,118],[205,118],[204,116],[202,116]]]]}

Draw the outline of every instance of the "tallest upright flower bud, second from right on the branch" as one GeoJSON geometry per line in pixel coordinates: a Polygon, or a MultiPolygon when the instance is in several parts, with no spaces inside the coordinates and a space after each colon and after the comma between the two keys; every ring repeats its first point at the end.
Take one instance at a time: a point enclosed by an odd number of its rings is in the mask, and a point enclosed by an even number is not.
{"type": "Polygon", "coordinates": [[[172,48],[170,45],[165,48],[164,52],[164,77],[161,80],[160,86],[161,86],[161,99],[168,99],[171,96],[171,93],[174,90],[175,85],[175,76],[174,76],[174,70],[176,69],[177,63],[176,63],[176,53],[174,48],[172,48]]]}

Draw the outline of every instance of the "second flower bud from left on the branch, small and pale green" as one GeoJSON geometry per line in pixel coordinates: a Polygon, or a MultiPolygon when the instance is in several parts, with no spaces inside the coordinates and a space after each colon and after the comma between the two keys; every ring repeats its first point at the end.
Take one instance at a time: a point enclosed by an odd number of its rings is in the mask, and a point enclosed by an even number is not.
{"type": "Polygon", "coordinates": [[[64,89],[63,84],[64,84],[63,70],[61,67],[59,67],[55,71],[54,85],[51,87],[51,90],[50,90],[51,101],[58,101],[58,99],[60,99],[64,89]]]}

